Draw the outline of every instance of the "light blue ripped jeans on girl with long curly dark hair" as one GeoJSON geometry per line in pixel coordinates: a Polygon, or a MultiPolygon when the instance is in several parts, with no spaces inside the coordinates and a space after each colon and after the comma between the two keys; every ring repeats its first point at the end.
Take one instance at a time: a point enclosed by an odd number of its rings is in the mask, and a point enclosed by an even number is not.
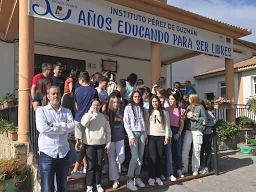
{"type": "Polygon", "coordinates": [[[145,131],[132,131],[132,133],[134,138],[136,139],[136,146],[130,146],[131,159],[127,174],[127,176],[129,177],[134,176],[134,170],[135,174],[140,173],[146,138],[145,131]]]}

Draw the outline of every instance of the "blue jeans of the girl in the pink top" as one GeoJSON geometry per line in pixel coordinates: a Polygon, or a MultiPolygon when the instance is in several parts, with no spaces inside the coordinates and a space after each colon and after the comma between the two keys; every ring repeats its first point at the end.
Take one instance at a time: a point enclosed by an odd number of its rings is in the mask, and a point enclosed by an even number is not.
{"type": "MultiPolygon", "coordinates": [[[[176,133],[178,133],[179,127],[177,126],[170,126],[170,129],[172,131],[172,135],[174,136],[176,133]]],[[[172,145],[174,149],[174,162],[175,162],[175,168],[181,169],[181,141],[182,141],[182,135],[179,135],[177,140],[172,139],[172,145]]]]}

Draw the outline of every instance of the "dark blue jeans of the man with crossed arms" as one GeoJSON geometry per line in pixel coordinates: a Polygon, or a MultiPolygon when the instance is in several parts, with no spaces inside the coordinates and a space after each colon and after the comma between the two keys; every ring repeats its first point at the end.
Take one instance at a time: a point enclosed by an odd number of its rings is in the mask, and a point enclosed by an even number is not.
{"type": "Polygon", "coordinates": [[[64,158],[52,158],[40,152],[39,170],[41,176],[41,192],[54,190],[54,173],[56,173],[58,191],[68,191],[66,187],[66,177],[69,167],[69,152],[64,158]]]}

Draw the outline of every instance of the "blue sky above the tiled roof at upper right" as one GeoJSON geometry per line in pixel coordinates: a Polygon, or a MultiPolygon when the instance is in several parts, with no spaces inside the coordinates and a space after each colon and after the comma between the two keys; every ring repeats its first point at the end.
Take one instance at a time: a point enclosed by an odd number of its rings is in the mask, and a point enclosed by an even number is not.
{"type": "Polygon", "coordinates": [[[256,0],[167,0],[167,4],[252,29],[252,34],[242,39],[256,43],[256,0]]]}

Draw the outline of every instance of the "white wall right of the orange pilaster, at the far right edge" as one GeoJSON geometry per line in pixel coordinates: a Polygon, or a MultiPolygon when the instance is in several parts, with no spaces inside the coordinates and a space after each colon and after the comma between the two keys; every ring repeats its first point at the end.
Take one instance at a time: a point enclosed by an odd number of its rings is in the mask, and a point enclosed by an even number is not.
{"type": "Polygon", "coordinates": [[[246,98],[256,96],[253,93],[253,77],[256,77],[256,69],[242,71],[243,104],[246,104],[246,98]]]}

